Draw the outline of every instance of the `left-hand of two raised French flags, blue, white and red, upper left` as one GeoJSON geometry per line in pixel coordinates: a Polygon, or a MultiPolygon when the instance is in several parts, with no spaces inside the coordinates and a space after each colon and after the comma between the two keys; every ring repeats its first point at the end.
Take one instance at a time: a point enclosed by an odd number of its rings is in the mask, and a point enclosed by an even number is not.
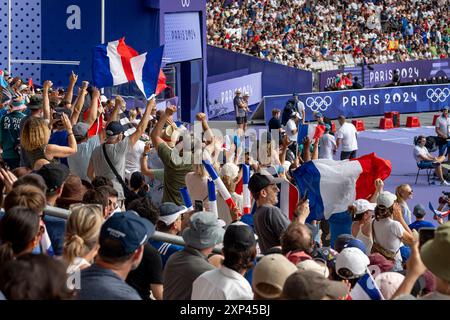
{"type": "Polygon", "coordinates": [[[96,46],[92,64],[94,85],[104,88],[134,80],[130,60],[138,55],[125,44],[125,38],[96,46]]]}

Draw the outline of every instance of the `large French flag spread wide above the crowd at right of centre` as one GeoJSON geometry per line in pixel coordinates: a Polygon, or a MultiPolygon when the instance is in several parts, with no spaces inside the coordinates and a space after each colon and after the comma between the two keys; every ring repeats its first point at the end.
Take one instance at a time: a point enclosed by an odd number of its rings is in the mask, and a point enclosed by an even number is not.
{"type": "Polygon", "coordinates": [[[311,211],[308,220],[322,220],[347,211],[356,199],[368,199],[375,192],[375,180],[385,180],[391,170],[389,160],[371,153],[351,161],[308,161],[293,175],[301,194],[308,190],[311,211]]]}

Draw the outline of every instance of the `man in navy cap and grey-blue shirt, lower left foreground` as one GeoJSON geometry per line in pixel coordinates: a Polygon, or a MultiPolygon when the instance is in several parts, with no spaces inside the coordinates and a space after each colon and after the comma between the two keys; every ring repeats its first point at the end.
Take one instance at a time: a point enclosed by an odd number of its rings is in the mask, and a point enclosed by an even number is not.
{"type": "Polygon", "coordinates": [[[95,263],[81,271],[80,300],[141,300],[125,279],[142,260],[144,243],[155,227],[134,211],[115,214],[100,230],[95,263]]]}

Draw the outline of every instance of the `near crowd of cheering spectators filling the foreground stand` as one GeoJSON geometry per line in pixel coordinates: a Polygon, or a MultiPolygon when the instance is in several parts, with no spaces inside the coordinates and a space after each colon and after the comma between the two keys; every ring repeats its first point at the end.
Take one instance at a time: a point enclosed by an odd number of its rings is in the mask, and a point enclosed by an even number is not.
{"type": "Polygon", "coordinates": [[[221,137],[198,113],[196,137],[173,120],[175,106],[157,111],[155,99],[130,122],[120,96],[82,82],[75,97],[76,74],[66,90],[46,81],[40,92],[1,75],[2,299],[358,300],[365,277],[384,299],[450,299],[450,223],[437,219],[419,251],[411,229],[423,227],[425,213],[409,210],[410,186],[394,195],[375,180],[368,199],[339,213],[338,227],[309,221],[307,196],[292,217],[278,206],[277,184],[295,184],[297,168],[330,161],[341,147],[341,159],[356,157],[356,130],[343,116],[336,139],[316,114],[322,137],[293,144],[304,121],[294,97],[283,127],[273,114],[279,135],[255,140],[239,128],[221,137]],[[244,164],[254,212],[242,215],[244,164]],[[217,200],[208,177],[218,181],[217,200]]]}

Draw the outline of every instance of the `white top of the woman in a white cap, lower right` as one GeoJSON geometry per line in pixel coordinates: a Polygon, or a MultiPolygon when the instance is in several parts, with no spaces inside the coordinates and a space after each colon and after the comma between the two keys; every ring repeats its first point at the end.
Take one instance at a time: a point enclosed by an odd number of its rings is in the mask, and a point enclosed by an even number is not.
{"type": "MultiPolygon", "coordinates": [[[[398,252],[402,246],[400,238],[405,232],[402,224],[391,218],[374,220],[373,229],[375,231],[375,242],[391,252],[398,252]]],[[[374,236],[374,235],[372,235],[374,236]]]]}

